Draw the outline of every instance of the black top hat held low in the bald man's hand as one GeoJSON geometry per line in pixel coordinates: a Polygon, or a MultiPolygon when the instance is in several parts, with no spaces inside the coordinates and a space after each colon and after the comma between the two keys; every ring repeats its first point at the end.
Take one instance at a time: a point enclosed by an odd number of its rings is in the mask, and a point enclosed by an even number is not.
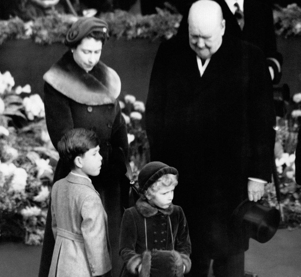
{"type": "Polygon", "coordinates": [[[245,199],[233,211],[231,220],[235,229],[244,229],[246,238],[266,243],[278,229],[280,213],[276,208],[245,199]]]}

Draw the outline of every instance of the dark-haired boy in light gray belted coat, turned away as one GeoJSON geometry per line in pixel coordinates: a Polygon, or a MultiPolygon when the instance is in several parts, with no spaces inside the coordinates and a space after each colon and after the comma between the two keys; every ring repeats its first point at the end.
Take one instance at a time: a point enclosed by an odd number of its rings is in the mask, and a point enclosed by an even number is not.
{"type": "Polygon", "coordinates": [[[111,276],[107,215],[89,179],[101,169],[98,138],[93,131],[72,129],[58,151],[71,172],[52,187],[56,243],[49,276],[111,276]]]}

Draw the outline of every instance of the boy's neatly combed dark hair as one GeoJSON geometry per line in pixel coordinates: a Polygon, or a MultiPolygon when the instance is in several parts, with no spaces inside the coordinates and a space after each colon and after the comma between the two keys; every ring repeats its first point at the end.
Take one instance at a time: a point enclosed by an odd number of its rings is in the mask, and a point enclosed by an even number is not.
{"type": "Polygon", "coordinates": [[[83,156],[91,148],[97,147],[99,140],[94,131],[75,128],[67,131],[57,144],[60,158],[74,169],[76,156],[83,156]]]}

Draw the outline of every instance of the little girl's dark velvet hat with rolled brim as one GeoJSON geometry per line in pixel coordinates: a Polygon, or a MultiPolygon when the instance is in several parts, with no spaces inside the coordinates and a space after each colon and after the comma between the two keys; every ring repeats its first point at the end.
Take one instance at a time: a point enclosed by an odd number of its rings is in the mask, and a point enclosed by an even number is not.
{"type": "Polygon", "coordinates": [[[170,167],[161,162],[150,162],[142,167],[138,175],[138,184],[140,191],[146,191],[153,183],[165,174],[174,174],[179,176],[174,167],[170,167]]]}

